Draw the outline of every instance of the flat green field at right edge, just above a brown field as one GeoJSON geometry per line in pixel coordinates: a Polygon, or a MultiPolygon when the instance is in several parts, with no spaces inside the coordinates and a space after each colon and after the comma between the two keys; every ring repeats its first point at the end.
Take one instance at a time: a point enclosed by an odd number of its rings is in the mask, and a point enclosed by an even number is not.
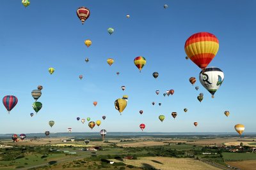
{"type": "Polygon", "coordinates": [[[223,152],[223,159],[225,161],[232,160],[256,160],[256,153],[230,153],[223,152]]]}

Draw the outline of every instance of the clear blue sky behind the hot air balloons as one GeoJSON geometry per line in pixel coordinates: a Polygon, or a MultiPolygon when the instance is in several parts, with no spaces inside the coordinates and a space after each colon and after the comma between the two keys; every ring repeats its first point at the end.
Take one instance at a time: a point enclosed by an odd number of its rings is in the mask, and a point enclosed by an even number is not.
{"type": "Polygon", "coordinates": [[[0,96],[14,95],[19,102],[10,115],[1,104],[0,133],[67,132],[68,127],[73,132],[140,132],[141,123],[145,132],[235,132],[236,124],[255,132],[255,7],[253,0],[31,0],[27,8],[21,1],[1,2],[0,96]],[[84,25],[76,16],[80,6],[91,11],[84,25]],[[115,29],[111,36],[109,27],[115,29]],[[198,80],[199,67],[185,59],[184,43],[196,32],[211,32],[220,41],[209,66],[220,67],[225,80],[214,99],[198,80]],[[92,40],[90,48],[85,39],[92,40]],[[147,59],[141,73],[133,62],[140,55],[147,59]],[[86,57],[90,62],[84,62],[86,57]],[[112,66],[108,58],[115,60],[112,66]],[[49,67],[55,68],[52,75],[49,67]],[[194,86],[191,76],[198,80],[194,86]],[[43,107],[30,117],[35,113],[31,90],[38,85],[44,87],[38,99],[43,107]],[[170,89],[173,96],[163,97],[170,89]],[[200,92],[202,103],[196,99],[200,92]],[[123,95],[129,101],[120,116],[114,101],[123,95]],[[178,113],[175,120],[172,111],[178,113]],[[159,115],[165,115],[164,122],[159,115]],[[76,117],[102,124],[90,130],[76,117]],[[49,120],[55,121],[52,128],[49,120]]]}

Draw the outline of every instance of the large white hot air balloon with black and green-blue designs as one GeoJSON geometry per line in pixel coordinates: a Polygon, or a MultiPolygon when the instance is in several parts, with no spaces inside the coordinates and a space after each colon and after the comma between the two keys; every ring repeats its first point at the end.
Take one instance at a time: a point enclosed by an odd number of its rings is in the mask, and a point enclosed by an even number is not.
{"type": "Polygon", "coordinates": [[[215,92],[220,88],[224,80],[224,73],[217,67],[209,67],[205,69],[204,73],[203,71],[200,72],[199,80],[204,88],[212,94],[212,98],[214,98],[215,92]]]}

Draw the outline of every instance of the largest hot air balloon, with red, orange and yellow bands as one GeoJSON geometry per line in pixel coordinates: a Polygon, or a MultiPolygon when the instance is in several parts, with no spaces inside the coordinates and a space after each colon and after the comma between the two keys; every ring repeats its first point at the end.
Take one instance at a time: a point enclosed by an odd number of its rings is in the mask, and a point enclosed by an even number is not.
{"type": "Polygon", "coordinates": [[[198,67],[205,69],[219,50],[219,40],[209,32],[198,32],[185,43],[185,52],[198,67]]]}

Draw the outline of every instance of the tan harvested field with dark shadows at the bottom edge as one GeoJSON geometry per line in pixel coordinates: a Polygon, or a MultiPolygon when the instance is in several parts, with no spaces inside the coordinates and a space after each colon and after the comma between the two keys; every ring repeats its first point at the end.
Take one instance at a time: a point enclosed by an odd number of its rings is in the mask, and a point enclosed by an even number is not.
{"type": "MultiPolygon", "coordinates": [[[[122,162],[120,160],[115,160],[115,162],[122,162]]],[[[141,157],[138,160],[125,160],[125,164],[132,165],[136,167],[147,167],[155,169],[166,169],[166,170],[217,170],[219,168],[212,167],[204,162],[200,162],[194,159],[185,158],[170,158],[170,157],[141,157]]]]}

